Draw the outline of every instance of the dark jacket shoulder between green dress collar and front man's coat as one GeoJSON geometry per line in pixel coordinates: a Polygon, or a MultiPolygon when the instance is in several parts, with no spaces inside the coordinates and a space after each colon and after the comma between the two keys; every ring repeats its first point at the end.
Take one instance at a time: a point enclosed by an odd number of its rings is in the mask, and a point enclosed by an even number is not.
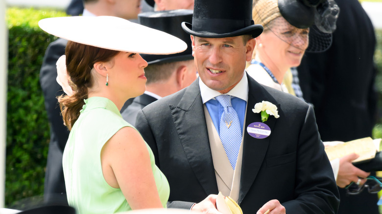
{"type": "Polygon", "coordinates": [[[122,118],[129,124],[135,126],[138,112],[142,110],[143,107],[149,105],[150,103],[156,100],[157,98],[154,98],[147,94],[142,94],[141,96],[134,98],[133,102],[130,105],[128,105],[128,107],[126,107],[123,111],[121,110],[122,118]]]}

